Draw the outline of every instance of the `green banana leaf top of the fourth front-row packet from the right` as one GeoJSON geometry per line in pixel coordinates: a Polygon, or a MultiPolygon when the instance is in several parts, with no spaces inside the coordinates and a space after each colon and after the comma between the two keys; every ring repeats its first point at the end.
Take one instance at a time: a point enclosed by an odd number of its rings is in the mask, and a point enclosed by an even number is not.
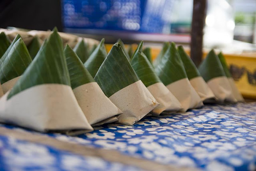
{"type": "Polygon", "coordinates": [[[164,85],[187,78],[186,71],[174,42],[171,43],[160,63],[155,67],[156,74],[164,85]]]}

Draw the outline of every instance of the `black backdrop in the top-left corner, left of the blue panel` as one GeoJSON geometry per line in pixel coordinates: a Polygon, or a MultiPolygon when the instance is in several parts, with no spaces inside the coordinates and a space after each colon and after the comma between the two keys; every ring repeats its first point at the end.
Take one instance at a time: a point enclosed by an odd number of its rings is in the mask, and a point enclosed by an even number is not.
{"type": "Polygon", "coordinates": [[[61,0],[0,0],[0,28],[62,31],[61,0]]]}

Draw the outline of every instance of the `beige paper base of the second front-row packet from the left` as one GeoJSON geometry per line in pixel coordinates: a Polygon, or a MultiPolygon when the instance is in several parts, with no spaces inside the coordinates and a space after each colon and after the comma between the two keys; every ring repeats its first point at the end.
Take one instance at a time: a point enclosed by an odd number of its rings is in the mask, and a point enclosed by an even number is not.
{"type": "Polygon", "coordinates": [[[87,83],[73,89],[79,106],[86,116],[89,124],[109,123],[112,118],[122,111],[114,105],[101,90],[98,83],[87,83]],[[105,121],[104,121],[105,120],[105,121]]]}

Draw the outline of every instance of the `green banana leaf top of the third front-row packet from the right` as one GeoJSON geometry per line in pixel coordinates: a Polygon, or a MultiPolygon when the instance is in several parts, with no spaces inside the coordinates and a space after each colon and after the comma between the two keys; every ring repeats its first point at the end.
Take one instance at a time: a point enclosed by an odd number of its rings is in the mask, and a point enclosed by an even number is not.
{"type": "Polygon", "coordinates": [[[178,46],[178,53],[180,55],[180,58],[184,64],[186,74],[188,76],[188,79],[193,79],[195,77],[201,76],[196,65],[192,61],[192,59],[188,56],[188,54],[184,51],[182,46],[178,46]]]}

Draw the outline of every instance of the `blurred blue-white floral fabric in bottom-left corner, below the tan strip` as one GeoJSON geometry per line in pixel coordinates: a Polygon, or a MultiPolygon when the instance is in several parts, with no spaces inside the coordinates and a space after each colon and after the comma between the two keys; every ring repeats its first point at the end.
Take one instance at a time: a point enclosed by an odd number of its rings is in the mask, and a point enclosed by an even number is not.
{"type": "Polygon", "coordinates": [[[0,170],[61,171],[140,171],[121,163],[110,163],[97,157],[83,157],[46,145],[0,136],[0,170]]]}

